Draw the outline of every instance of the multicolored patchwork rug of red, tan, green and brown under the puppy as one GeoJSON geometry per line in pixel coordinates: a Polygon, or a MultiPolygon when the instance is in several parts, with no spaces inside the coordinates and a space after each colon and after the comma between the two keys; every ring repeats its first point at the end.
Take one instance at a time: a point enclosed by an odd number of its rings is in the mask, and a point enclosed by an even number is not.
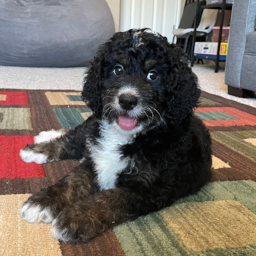
{"type": "Polygon", "coordinates": [[[87,244],[64,244],[50,225],[20,219],[18,209],[79,163],[27,164],[19,151],[39,132],[74,128],[91,111],[78,91],[1,90],[0,255],[255,255],[255,109],[203,92],[195,114],[213,139],[210,184],[87,244]]]}

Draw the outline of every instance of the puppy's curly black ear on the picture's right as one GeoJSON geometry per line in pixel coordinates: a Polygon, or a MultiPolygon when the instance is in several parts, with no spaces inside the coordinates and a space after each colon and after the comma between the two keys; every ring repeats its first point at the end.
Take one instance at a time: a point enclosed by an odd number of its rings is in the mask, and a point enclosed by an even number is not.
{"type": "Polygon", "coordinates": [[[188,64],[187,55],[176,45],[168,49],[170,70],[168,74],[167,106],[163,117],[172,124],[180,124],[184,118],[192,115],[200,97],[197,77],[188,64]]]}

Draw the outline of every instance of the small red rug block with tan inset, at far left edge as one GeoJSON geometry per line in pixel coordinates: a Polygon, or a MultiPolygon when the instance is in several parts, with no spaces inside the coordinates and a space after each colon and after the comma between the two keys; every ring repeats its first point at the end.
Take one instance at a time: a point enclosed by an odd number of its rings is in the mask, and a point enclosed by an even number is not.
{"type": "Polygon", "coordinates": [[[29,105],[26,91],[0,91],[0,105],[29,105]]]}

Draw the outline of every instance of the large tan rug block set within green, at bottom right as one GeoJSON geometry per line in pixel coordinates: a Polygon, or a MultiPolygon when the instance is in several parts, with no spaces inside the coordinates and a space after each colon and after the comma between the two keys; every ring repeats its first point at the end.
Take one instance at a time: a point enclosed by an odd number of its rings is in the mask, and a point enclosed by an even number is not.
{"type": "Polygon", "coordinates": [[[159,214],[184,246],[195,252],[255,244],[255,214],[236,201],[181,203],[159,214]]]}

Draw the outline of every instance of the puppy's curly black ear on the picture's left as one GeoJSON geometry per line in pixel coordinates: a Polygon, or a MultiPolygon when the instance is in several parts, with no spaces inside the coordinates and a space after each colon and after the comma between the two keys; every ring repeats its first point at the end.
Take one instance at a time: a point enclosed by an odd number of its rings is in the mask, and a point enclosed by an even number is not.
{"type": "Polygon", "coordinates": [[[98,52],[91,66],[86,72],[83,79],[82,99],[89,103],[92,112],[97,116],[102,115],[102,98],[101,98],[101,78],[102,78],[102,56],[98,52]]]}

